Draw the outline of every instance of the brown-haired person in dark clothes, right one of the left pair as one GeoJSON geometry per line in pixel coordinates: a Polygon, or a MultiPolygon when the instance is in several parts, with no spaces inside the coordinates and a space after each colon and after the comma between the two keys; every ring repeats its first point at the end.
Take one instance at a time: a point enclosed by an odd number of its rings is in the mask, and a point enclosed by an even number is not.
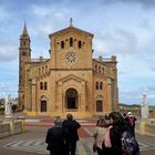
{"type": "Polygon", "coordinates": [[[72,114],[66,115],[66,120],[62,123],[65,155],[75,155],[76,142],[79,141],[78,130],[81,125],[73,120],[72,114]]]}

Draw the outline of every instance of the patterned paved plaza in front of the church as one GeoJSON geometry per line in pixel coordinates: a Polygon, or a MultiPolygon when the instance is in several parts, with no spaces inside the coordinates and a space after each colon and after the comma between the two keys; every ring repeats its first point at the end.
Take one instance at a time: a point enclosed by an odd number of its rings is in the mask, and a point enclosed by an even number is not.
{"type": "MultiPolygon", "coordinates": [[[[82,127],[79,131],[76,155],[96,155],[92,152],[93,133],[96,120],[78,118],[82,127]]],[[[51,118],[27,118],[27,132],[0,140],[1,155],[48,155],[44,143],[46,130],[53,124],[51,118]]],[[[155,137],[136,135],[141,155],[154,155],[155,137]]]]}

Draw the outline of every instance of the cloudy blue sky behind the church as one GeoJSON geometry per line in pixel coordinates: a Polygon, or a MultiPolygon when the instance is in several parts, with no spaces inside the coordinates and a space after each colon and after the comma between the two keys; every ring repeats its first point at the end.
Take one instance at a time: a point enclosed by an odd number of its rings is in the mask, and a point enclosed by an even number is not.
{"type": "Polygon", "coordinates": [[[0,0],[0,97],[18,96],[24,21],[32,58],[49,58],[49,34],[73,25],[94,34],[94,58],[117,56],[121,103],[155,105],[155,0],[0,0]]]}

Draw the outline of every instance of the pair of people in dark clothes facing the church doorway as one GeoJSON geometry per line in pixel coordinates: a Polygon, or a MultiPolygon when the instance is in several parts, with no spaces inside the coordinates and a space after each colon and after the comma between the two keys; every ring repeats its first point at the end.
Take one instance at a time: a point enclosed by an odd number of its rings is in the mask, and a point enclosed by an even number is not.
{"type": "Polygon", "coordinates": [[[54,126],[48,130],[45,138],[50,155],[75,155],[80,127],[81,125],[73,120],[72,114],[68,114],[63,122],[61,117],[55,117],[54,126]]]}

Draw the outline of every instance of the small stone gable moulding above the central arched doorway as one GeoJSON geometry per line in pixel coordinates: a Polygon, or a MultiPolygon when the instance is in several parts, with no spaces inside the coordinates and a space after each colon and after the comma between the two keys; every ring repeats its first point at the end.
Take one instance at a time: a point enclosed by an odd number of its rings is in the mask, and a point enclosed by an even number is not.
{"type": "Polygon", "coordinates": [[[76,82],[84,82],[84,83],[86,82],[84,79],[79,78],[79,76],[76,76],[74,74],[69,74],[68,76],[64,76],[62,79],[59,79],[56,82],[58,83],[60,83],[60,82],[64,83],[64,82],[70,81],[70,80],[74,80],[76,82]]]}

